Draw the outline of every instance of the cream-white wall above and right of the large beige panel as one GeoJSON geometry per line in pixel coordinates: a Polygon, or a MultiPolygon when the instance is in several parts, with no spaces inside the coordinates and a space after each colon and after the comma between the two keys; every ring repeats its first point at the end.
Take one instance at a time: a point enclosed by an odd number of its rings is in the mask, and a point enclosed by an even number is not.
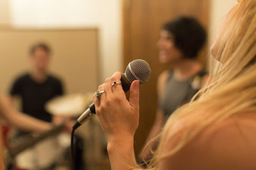
{"type": "Polygon", "coordinates": [[[100,80],[122,68],[122,1],[10,0],[15,27],[99,29],[100,80]]]}

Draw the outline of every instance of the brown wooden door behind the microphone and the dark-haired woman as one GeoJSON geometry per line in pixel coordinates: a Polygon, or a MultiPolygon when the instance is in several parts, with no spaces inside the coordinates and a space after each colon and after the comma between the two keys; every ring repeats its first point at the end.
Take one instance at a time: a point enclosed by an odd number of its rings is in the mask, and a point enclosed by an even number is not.
{"type": "MultiPolygon", "coordinates": [[[[140,152],[154,122],[157,107],[157,76],[166,69],[159,64],[156,43],[164,22],[180,15],[197,18],[207,29],[209,0],[124,0],[124,67],[134,59],[150,64],[152,76],[140,88],[140,125],[135,136],[135,152],[140,152]]],[[[202,50],[200,61],[205,62],[202,50]]]]}

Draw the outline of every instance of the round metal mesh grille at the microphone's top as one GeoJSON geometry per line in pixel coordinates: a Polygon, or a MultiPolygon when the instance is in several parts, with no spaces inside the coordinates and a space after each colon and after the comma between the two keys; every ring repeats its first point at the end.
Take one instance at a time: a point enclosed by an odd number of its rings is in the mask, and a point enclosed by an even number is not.
{"type": "Polygon", "coordinates": [[[125,76],[130,83],[134,80],[140,80],[141,83],[145,83],[150,78],[150,74],[149,64],[141,59],[133,60],[125,69],[125,76]]]}

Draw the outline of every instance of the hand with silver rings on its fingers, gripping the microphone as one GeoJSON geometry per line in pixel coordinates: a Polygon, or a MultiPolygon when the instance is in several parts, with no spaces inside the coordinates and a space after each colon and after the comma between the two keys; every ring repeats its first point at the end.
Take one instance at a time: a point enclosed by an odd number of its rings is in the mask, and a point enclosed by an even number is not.
{"type": "Polygon", "coordinates": [[[99,86],[105,92],[97,98],[93,96],[97,116],[106,136],[117,134],[134,135],[139,120],[139,87],[140,81],[135,80],[131,84],[130,97],[127,101],[121,85],[113,85],[112,82],[120,81],[122,73],[116,72],[105,83],[99,86]]]}

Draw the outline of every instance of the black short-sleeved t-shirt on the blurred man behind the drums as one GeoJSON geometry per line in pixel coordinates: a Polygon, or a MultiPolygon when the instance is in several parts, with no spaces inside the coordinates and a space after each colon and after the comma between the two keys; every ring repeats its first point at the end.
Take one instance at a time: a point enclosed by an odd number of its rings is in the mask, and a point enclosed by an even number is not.
{"type": "Polygon", "coordinates": [[[37,83],[26,73],[19,76],[10,90],[11,96],[20,96],[22,111],[32,117],[51,122],[52,115],[45,110],[45,103],[63,94],[61,81],[49,75],[43,83],[37,83]]]}

